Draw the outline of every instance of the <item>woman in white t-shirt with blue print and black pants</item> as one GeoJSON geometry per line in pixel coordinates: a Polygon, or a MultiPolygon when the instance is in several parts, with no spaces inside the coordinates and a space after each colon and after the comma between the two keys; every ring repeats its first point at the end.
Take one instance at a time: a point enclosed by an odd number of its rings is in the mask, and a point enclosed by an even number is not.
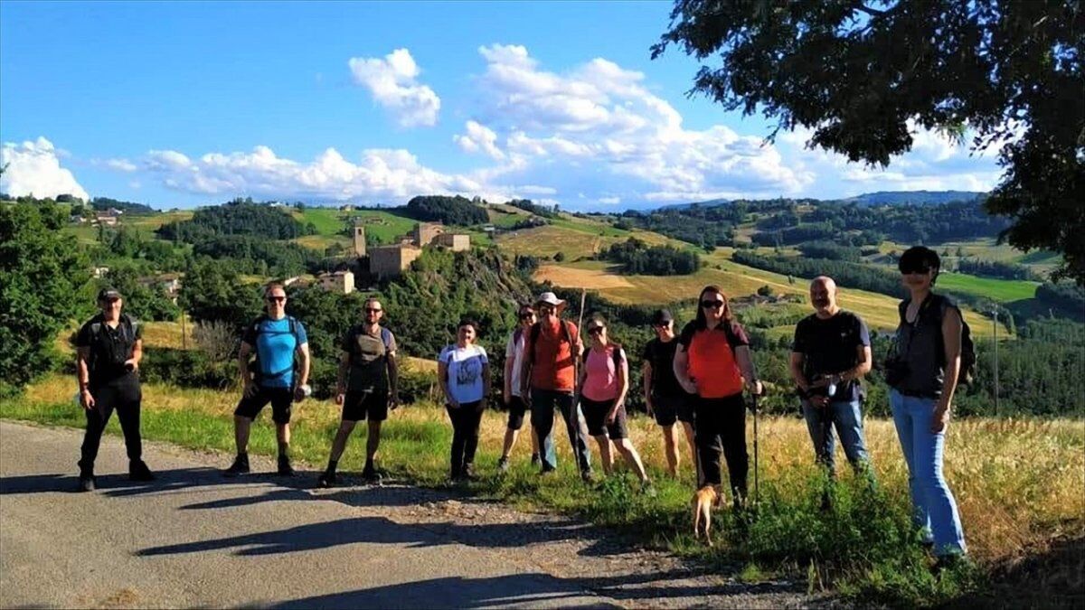
{"type": "Polygon", "coordinates": [[[478,425],[486,408],[489,387],[489,360],[486,351],[475,345],[478,325],[461,320],[456,343],[437,357],[437,380],[445,393],[445,408],[452,420],[451,479],[474,479],[474,454],[478,447],[478,425]]]}

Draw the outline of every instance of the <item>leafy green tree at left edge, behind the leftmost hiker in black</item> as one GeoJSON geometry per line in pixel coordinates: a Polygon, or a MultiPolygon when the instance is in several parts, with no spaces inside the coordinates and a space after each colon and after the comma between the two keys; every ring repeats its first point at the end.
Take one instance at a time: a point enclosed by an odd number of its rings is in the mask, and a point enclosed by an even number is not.
{"type": "Polygon", "coordinates": [[[53,340],[92,310],[90,264],[51,204],[0,205],[0,394],[51,369],[53,340]]]}

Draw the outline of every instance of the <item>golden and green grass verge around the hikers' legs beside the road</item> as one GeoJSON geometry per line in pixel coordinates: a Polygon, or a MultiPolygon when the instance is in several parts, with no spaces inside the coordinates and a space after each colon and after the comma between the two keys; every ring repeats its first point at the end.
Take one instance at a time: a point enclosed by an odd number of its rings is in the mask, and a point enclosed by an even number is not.
{"type": "MultiPolygon", "coordinates": [[[[21,398],[0,402],[0,417],[78,427],[81,416],[71,403],[71,379],[49,376],[31,385],[21,398]]],[[[235,394],[144,384],[144,434],[190,447],[230,452],[235,394]]],[[[292,450],[310,470],[321,468],[327,459],[337,414],[330,402],[307,401],[295,408],[292,450]]],[[[427,404],[406,406],[393,414],[381,446],[382,467],[418,484],[446,484],[446,452],[450,442],[446,420],[443,409],[427,404]]],[[[821,487],[805,425],[793,418],[763,419],[760,449],[764,501],[758,517],[752,523],[740,522],[730,511],[719,511],[717,541],[723,544],[715,549],[697,544],[687,533],[692,473],[685,446],[680,479],[669,480],[663,472],[658,428],[648,418],[631,418],[630,437],[656,481],[655,498],[637,493],[627,473],[585,493],[572,469],[564,439],[558,440],[561,467],[557,475],[533,474],[526,465],[528,445],[521,442],[512,472],[498,478],[496,460],[503,429],[503,415],[488,411],[476,459],[484,479],[472,484],[472,493],[524,509],[569,512],[640,532],[646,543],[719,561],[722,569],[726,565],[735,570],[738,562],[739,567],[745,567],[743,574],[750,580],[757,580],[757,574],[761,577],[806,574],[812,577],[813,588],[839,586],[891,603],[948,601],[962,593],[959,583],[930,577],[922,555],[914,545],[892,542],[893,528],[906,522],[908,499],[906,469],[890,421],[867,421],[868,445],[879,482],[877,495],[864,496],[876,492],[864,492],[866,487],[845,473],[838,492],[838,508],[825,513],[816,509],[821,487]],[[869,531],[871,523],[888,528],[884,539],[879,538],[878,532],[869,531]],[[855,532],[867,532],[864,535],[873,537],[855,537],[855,532]],[[844,544],[843,539],[858,546],[819,546],[844,544]],[[879,559],[881,555],[885,558],[879,559]],[[899,558],[891,559],[897,556],[908,559],[904,563],[899,558]],[[896,574],[896,581],[886,580],[889,570],[896,574]]],[[[115,419],[110,432],[118,433],[115,419]]],[[[750,434],[752,429],[748,427],[750,434]]],[[[342,470],[348,473],[360,470],[363,435],[359,429],[344,455],[342,470]]],[[[592,449],[598,457],[593,444],[592,449]]],[[[77,452],[77,447],[72,450],[77,452]]],[[[273,430],[267,421],[254,427],[251,450],[269,455],[275,452],[273,430]]],[[[224,467],[227,459],[224,457],[224,467]]],[[[843,461],[842,456],[840,460],[843,461]]],[[[970,551],[981,567],[1012,562],[1021,558],[1024,549],[1037,552],[1060,537],[1080,538],[1085,534],[1082,494],[1085,422],[954,422],[945,463],[960,505],[970,551]]]]}

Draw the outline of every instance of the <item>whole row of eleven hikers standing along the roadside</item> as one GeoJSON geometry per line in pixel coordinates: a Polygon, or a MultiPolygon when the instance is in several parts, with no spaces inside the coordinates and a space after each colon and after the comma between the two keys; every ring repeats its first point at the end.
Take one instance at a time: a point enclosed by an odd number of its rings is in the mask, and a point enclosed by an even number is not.
{"type": "MultiPolygon", "coordinates": [[[[911,247],[899,258],[902,283],[909,296],[899,304],[885,377],[908,467],[916,524],[935,552],[948,558],[962,555],[966,546],[957,505],[943,475],[945,431],[961,363],[967,368],[972,354],[960,310],[932,292],[940,266],[937,254],[923,246],[911,247]]],[[[831,474],[839,437],[853,468],[872,483],[860,383],[872,365],[869,331],[857,315],[841,309],[831,278],[814,279],[809,294],[815,312],[795,328],[789,369],[815,458],[831,474]]],[[[268,285],[265,298],[266,314],[248,325],[242,336],[238,366],[243,390],[234,411],[237,457],[225,471],[228,476],[250,472],[250,428],[268,404],[279,445],[278,473],[294,474],[291,409],[309,394],[311,358],[305,327],[286,315],[283,287],[268,285]],[[255,363],[250,363],[251,356],[255,363]]],[[[141,450],[141,328],[122,312],[118,292],[101,291],[98,304],[101,314],[82,326],[76,340],[79,402],[87,417],[79,460],[82,491],[94,488],[94,459],[114,410],[124,432],[131,479],[154,479],[141,450]]],[[[604,474],[612,472],[615,454],[620,454],[641,488],[653,495],[628,434],[629,355],[600,315],[583,323],[585,341],[580,325],[563,318],[565,306],[552,292],[520,306],[519,323],[505,347],[501,398],[508,423],[498,470],[508,470],[528,412],[532,465],[544,474],[557,469],[557,410],[586,482],[597,478],[588,441],[592,437],[604,474]]],[[[367,300],[361,323],[343,338],[334,394],[342,419],[328,467],[318,480],[321,486],[337,484],[339,460],[359,421],[367,421],[369,432],[362,478],[368,482],[381,479],[376,466],[381,425],[398,404],[396,339],[382,326],[383,316],[381,302],[367,300]]],[[[641,354],[640,391],[649,415],[662,430],[667,472],[678,474],[682,436],[697,471],[697,488],[711,492],[707,495],[716,503],[729,493],[733,505],[742,508],[748,501],[750,470],[743,393],[753,397],[756,460],[756,397],[764,390],[746,333],[732,315],[727,295],[714,285],[700,292],[697,316],[680,331],[676,332],[674,316],[665,309],[653,315],[651,326],[655,338],[641,354]],[[726,490],[722,462],[728,473],[726,490]]],[[[456,481],[476,476],[475,452],[490,387],[489,358],[477,344],[478,331],[476,321],[461,320],[455,341],[437,358],[438,383],[452,425],[449,474],[456,481]]],[[[699,492],[698,497],[702,495],[699,492]]]]}

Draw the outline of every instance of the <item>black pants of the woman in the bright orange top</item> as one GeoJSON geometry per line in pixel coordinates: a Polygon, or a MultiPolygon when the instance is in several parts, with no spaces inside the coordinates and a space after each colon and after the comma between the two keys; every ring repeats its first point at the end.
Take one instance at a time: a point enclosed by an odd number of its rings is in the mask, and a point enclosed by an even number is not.
{"type": "Polygon", "coordinates": [[[723,482],[719,454],[727,459],[731,491],[745,497],[750,456],[745,448],[745,403],[742,393],[724,398],[698,397],[693,406],[697,425],[694,440],[701,460],[701,474],[706,485],[723,482]]]}

